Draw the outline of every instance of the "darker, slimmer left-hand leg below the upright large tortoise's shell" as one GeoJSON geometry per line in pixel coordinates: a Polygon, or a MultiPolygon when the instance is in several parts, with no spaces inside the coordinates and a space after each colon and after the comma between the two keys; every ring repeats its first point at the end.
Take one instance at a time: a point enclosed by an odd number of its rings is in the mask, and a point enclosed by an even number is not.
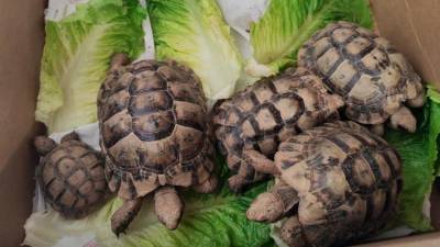
{"type": "Polygon", "coordinates": [[[117,210],[111,216],[111,231],[119,236],[119,234],[125,232],[127,227],[138,215],[142,206],[143,198],[134,200],[127,200],[121,207],[117,210]]]}

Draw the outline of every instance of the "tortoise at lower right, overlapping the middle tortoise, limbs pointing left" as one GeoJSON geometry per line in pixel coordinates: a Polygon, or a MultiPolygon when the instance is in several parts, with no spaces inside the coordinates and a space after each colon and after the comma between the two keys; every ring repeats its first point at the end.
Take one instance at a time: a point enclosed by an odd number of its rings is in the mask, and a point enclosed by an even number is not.
{"type": "Polygon", "coordinates": [[[279,145],[275,186],[260,194],[248,218],[283,218],[292,247],[341,246],[382,228],[402,190],[402,161],[384,139],[354,122],[326,123],[279,145]]]}

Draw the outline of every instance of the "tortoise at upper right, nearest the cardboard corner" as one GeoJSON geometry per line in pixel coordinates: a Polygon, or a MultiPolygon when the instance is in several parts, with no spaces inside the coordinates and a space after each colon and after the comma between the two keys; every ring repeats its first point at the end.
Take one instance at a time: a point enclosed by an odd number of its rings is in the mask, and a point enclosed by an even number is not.
{"type": "Polygon", "coordinates": [[[384,37],[358,24],[340,21],[318,31],[298,52],[298,66],[322,77],[343,97],[345,116],[382,135],[384,123],[415,132],[417,121],[404,103],[425,103],[420,77],[384,37]]]}

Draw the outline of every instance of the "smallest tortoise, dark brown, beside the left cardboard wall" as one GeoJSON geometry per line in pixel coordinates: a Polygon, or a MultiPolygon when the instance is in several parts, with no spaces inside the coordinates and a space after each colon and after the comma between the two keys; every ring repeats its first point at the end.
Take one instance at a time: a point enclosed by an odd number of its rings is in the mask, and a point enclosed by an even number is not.
{"type": "Polygon", "coordinates": [[[81,218],[107,198],[103,156],[79,141],[73,132],[61,144],[36,136],[34,145],[42,156],[36,180],[46,202],[66,218],[81,218]]]}

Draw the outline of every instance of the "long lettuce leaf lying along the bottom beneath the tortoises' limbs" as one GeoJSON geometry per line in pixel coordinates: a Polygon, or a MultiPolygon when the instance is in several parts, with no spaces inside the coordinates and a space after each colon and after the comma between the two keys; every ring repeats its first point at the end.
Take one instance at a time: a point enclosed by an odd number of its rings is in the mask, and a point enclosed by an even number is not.
{"type": "MultiPolygon", "coordinates": [[[[224,161],[221,166],[220,181],[227,181],[224,161]]],[[[122,204],[113,199],[97,213],[84,220],[67,221],[53,210],[31,215],[24,228],[24,244],[33,247],[48,247],[63,239],[96,239],[100,247],[229,247],[270,246],[267,224],[248,221],[245,210],[252,200],[267,188],[261,183],[242,195],[232,194],[227,183],[220,184],[216,194],[197,194],[185,191],[184,217],[179,227],[169,231],[163,226],[153,211],[152,199],[145,199],[140,214],[130,225],[127,234],[114,236],[110,228],[112,213],[122,204]]]]}

